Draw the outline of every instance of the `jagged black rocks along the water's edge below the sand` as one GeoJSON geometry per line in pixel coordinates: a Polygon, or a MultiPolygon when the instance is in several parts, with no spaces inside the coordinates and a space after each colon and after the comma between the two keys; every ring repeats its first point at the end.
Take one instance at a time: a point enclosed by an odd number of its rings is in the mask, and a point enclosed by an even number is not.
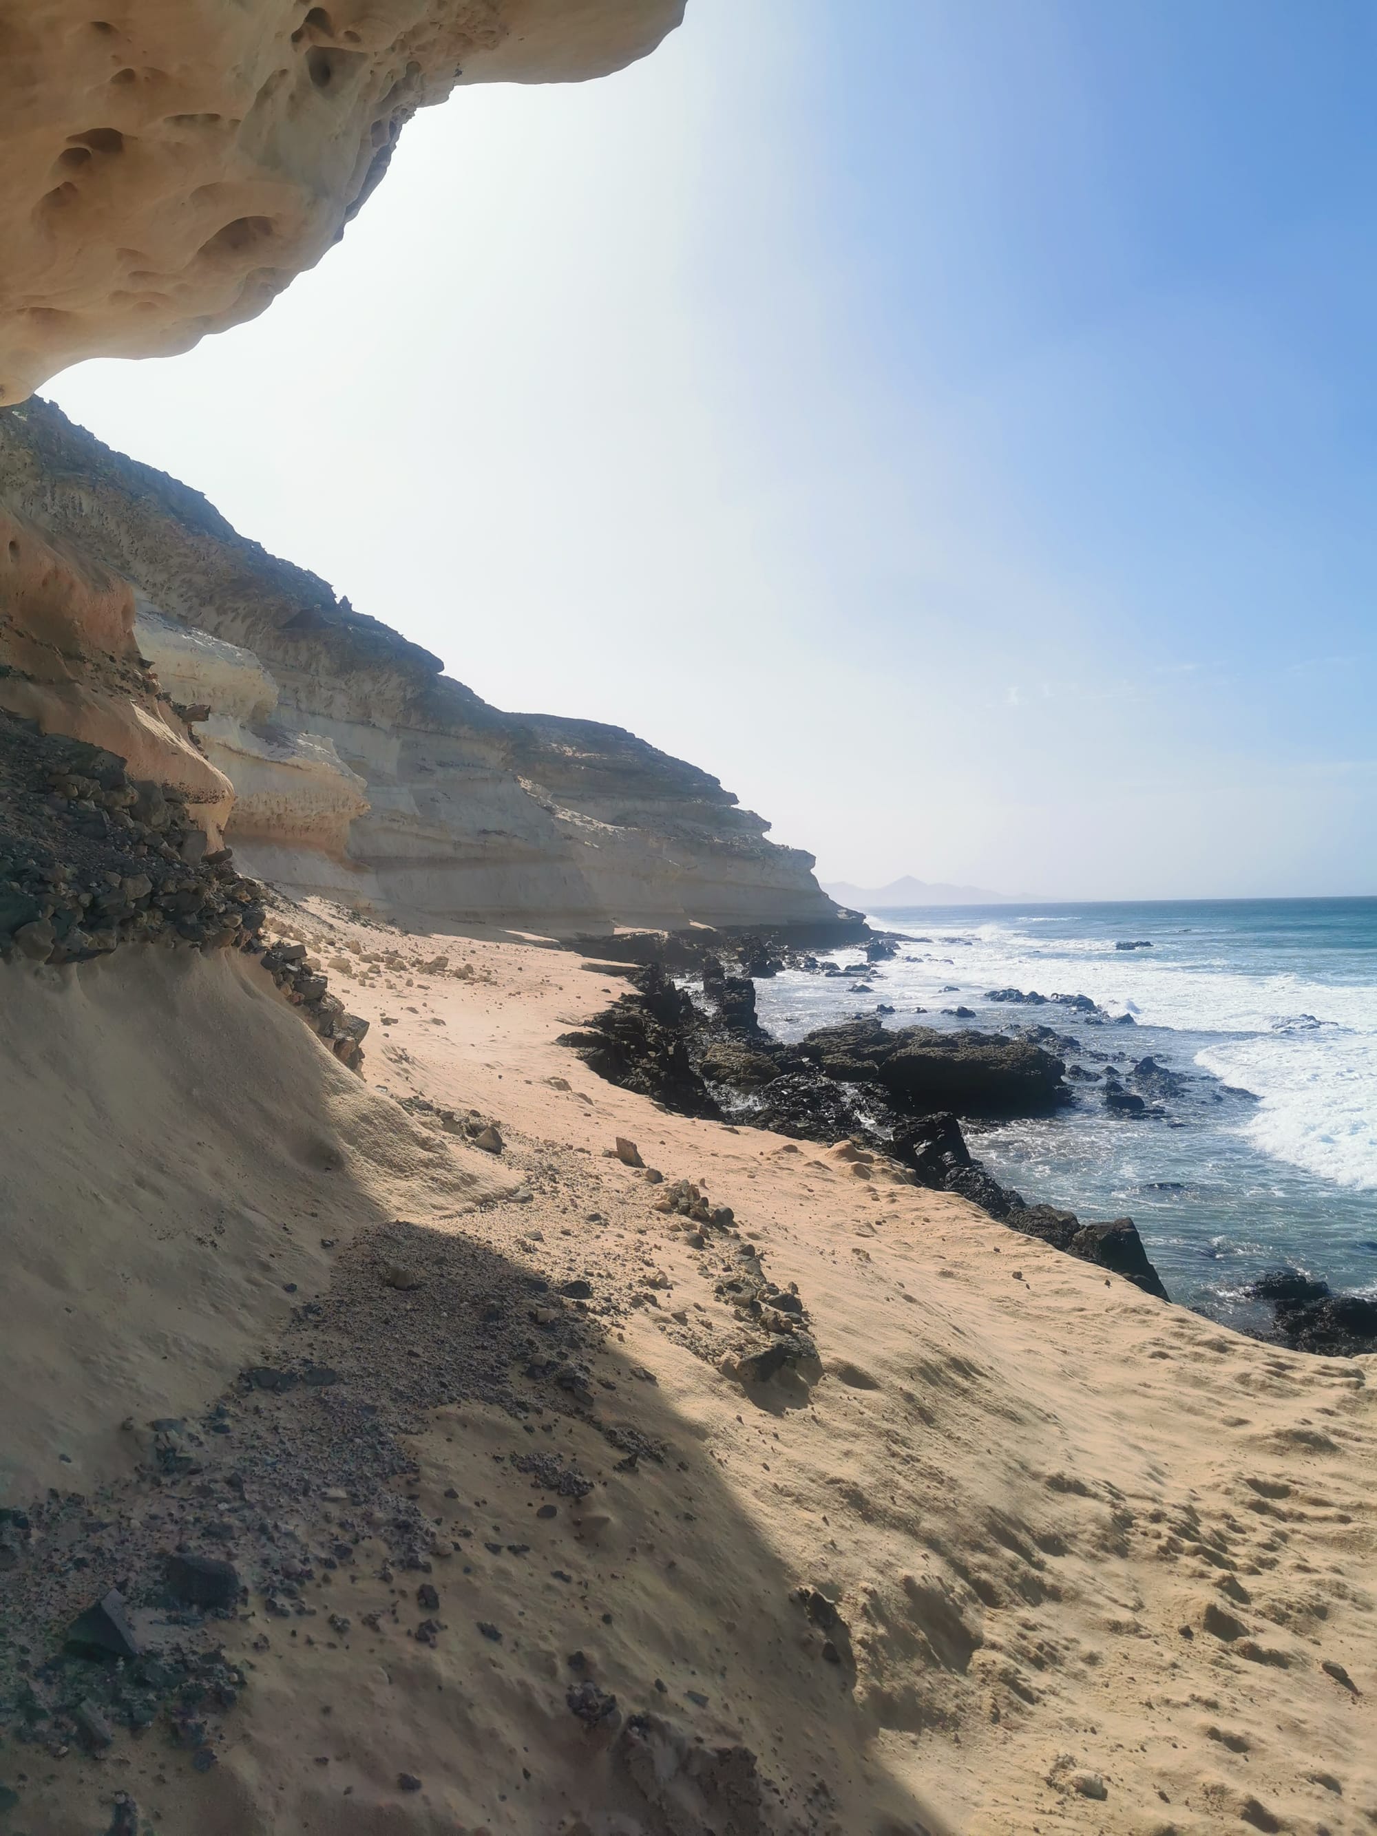
{"type": "MultiPolygon", "coordinates": [[[[751,931],[714,935],[711,942],[646,933],[586,938],[578,947],[604,964],[626,964],[632,986],[560,1043],[610,1083],[679,1114],[771,1129],[795,1140],[852,1140],[896,1162],[912,1184],[955,1192],[1012,1230],[1170,1300],[1133,1219],[1081,1223],[1059,1206],[1030,1204],[971,1155],[962,1122],[979,1129],[986,1120],[1052,1114],[1072,1100],[1069,1076],[1102,1083],[1107,1109],[1144,1114],[1177,1094],[1175,1072],[1144,1058],[1127,1072],[1129,1089],[1109,1054],[1091,1054],[1105,1059],[1102,1070],[1069,1067],[1063,1054],[1083,1058],[1083,1047],[1050,1026],[1021,1026],[1015,1037],[975,1028],[887,1028],[883,1015],[892,1008],[883,1004],[872,1015],[815,1028],[795,1045],[760,1026],[756,979],[795,968],[848,975],[857,993],[874,993],[865,969],[898,955],[905,942],[876,935],[859,920],[845,922],[839,935],[817,936],[751,931]],[[841,969],[813,955],[839,944],[856,944],[865,964],[841,969]],[[701,980],[701,997],[683,986],[690,980],[701,980]]],[[[1080,1023],[1131,1024],[1131,1015],[1111,1019],[1085,995],[1041,997],[1010,988],[988,999],[1002,1006],[1058,1002],[1080,1023]]],[[[953,1012],[975,1017],[969,1010],[953,1012]]],[[[1333,1294],[1327,1283],[1294,1269],[1263,1276],[1248,1294],[1274,1307],[1272,1331],[1258,1337],[1329,1357],[1377,1349],[1377,1304],[1364,1296],[1333,1294]]]]}

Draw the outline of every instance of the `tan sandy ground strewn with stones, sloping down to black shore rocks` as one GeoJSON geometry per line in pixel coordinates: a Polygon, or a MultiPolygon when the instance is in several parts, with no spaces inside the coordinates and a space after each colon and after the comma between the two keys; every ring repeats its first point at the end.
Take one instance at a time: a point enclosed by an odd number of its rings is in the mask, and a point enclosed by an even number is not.
{"type": "MultiPolygon", "coordinates": [[[[158,1730],[29,1759],[28,1830],[105,1830],[116,1790],[206,1836],[1377,1827],[1371,1360],[599,1083],[553,1043],[617,988],[578,958],[301,935],[431,1157],[270,1348],[338,1384],[226,1390],[158,1495],[193,1548],[226,1518],[248,1586],[217,1763],[158,1730]],[[470,1107],[505,1136],[476,1210],[470,1107]],[[734,1226],[657,1210],[617,1136],[734,1226]],[[819,1364],[742,1386],[756,1269],[819,1364]]],[[[103,1511],[147,1526],[138,1483],[103,1511]]]]}

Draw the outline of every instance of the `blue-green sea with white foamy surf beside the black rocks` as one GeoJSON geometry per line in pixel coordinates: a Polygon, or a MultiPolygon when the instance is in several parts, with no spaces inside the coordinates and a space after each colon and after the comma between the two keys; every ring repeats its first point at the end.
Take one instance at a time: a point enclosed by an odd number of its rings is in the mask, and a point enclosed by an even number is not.
{"type": "Polygon", "coordinates": [[[756,982],[762,1024],[799,1039],[879,1004],[896,1010],[885,1026],[1043,1024],[1080,1041],[1067,1063],[1109,1065],[1129,1089],[1151,1056],[1188,1080],[1160,1114],[1113,1114],[1103,1085],[1083,1083],[1047,1120],[968,1129],[971,1151],[1030,1204],[1133,1217],[1173,1300],[1237,1326],[1269,1318],[1241,1291],[1283,1263],[1377,1293],[1377,900],[947,905],[870,922],[901,942],[865,975],[868,993],[859,977],[789,969],[756,982]],[[1089,995],[1133,1026],[986,1001],[1002,988],[1089,995]],[[977,1019],[942,1012],[957,1006],[977,1019]]]}

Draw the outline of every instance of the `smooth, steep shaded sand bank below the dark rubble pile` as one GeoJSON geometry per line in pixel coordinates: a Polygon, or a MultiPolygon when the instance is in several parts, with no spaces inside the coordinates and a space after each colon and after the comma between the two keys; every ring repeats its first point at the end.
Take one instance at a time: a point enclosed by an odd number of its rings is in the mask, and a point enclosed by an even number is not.
{"type": "MultiPolygon", "coordinates": [[[[0,1502],[127,1471],[204,1405],[435,1144],[222,951],[0,971],[0,1502]]],[[[494,1190],[481,1157],[430,1203],[494,1190]]]]}

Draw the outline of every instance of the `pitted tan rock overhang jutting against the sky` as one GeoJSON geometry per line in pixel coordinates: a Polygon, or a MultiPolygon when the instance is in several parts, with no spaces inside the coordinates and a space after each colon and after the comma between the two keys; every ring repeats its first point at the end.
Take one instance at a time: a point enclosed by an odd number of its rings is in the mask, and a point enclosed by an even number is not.
{"type": "Polygon", "coordinates": [[[0,13],[0,404],[187,351],[338,242],[465,83],[644,57],[683,0],[24,0],[0,13]]]}

